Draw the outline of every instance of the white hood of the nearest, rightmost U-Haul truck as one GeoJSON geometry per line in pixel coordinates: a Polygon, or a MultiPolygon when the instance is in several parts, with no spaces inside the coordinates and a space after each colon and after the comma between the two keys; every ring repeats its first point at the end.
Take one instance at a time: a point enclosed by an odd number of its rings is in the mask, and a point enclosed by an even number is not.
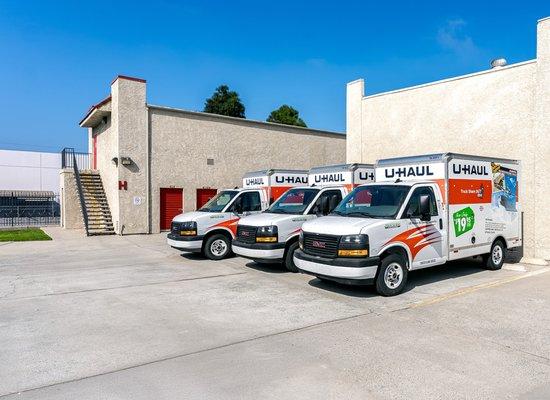
{"type": "Polygon", "coordinates": [[[388,221],[375,218],[326,216],[305,222],[302,225],[302,230],[326,235],[358,235],[367,233],[366,228],[371,225],[388,223],[388,221]]]}

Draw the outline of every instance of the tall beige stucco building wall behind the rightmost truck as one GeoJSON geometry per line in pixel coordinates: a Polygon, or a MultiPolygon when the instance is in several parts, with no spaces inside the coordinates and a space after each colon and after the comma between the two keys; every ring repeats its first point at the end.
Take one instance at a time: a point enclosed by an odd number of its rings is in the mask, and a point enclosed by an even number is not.
{"type": "Polygon", "coordinates": [[[347,162],[457,152],[519,159],[524,255],[550,259],[550,18],[536,59],[386,93],[347,86],[347,162]]]}

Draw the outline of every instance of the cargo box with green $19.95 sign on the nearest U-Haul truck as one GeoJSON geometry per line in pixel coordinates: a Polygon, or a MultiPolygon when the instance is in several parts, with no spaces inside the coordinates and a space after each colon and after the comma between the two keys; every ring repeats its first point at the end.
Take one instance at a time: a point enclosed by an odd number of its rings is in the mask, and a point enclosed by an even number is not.
{"type": "Polygon", "coordinates": [[[377,182],[433,181],[449,226],[448,259],[486,250],[497,235],[509,247],[521,245],[516,160],[460,154],[380,160],[377,182]]]}

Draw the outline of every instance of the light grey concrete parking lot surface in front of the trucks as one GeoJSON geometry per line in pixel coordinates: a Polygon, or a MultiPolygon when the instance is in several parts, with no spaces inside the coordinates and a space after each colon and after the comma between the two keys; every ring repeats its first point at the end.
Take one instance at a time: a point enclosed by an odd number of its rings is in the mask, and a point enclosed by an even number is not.
{"type": "Polygon", "coordinates": [[[550,273],[462,261],[405,293],[164,235],[0,244],[0,397],[548,399],[550,273]]]}

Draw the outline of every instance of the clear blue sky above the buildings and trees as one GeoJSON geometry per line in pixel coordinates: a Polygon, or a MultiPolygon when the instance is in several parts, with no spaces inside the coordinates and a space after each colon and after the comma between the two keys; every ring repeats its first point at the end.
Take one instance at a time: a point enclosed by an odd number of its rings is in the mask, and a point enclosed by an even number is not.
{"type": "Polygon", "coordinates": [[[78,121],[117,75],[148,102],[202,110],[225,83],[246,116],[281,104],[344,131],[345,87],[377,93],[535,57],[548,1],[0,0],[0,148],[86,148],[78,121]],[[447,4],[450,3],[450,4],[447,4]]]}

